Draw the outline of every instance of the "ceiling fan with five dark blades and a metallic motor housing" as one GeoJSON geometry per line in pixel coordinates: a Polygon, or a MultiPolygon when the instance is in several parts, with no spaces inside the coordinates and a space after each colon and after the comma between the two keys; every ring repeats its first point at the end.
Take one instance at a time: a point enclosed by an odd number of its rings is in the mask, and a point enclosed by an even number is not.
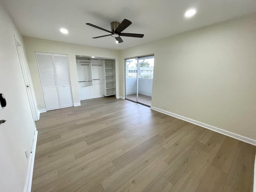
{"type": "Polygon", "coordinates": [[[126,36],[126,37],[138,37],[138,38],[142,38],[144,36],[144,34],[136,34],[136,33],[121,33],[123,30],[125,30],[130,24],[132,24],[132,22],[130,22],[129,20],[127,19],[124,19],[121,23],[117,22],[117,21],[113,21],[110,23],[110,26],[111,26],[111,31],[109,30],[106,30],[104,28],[101,28],[101,27],[98,27],[94,24],[90,24],[90,23],[86,23],[86,25],[89,25],[89,26],[92,26],[92,27],[95,27],[95,28],[98,28],[98,29],[101,29],[101,30],[104,30],[106,32],[109,32],[111,34],[108,34],[108,35],[102,35],[102,36],[98,36],[98,37],[93,37],[93,39],[96,39],[96,38],[100,38],[100,37],[106,37],[106,36],[112,36],[114,38],[116,38],[116,41],[118,43],[122,43],[124,42],[122,40],[122,38],[120,36],[126,36]]]}

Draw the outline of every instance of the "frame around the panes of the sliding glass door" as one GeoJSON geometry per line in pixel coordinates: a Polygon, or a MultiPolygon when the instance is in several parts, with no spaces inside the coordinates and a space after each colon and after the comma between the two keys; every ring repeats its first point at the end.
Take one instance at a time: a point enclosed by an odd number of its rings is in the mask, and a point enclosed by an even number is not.
{"type": "Polygon", "coordinates": [[[129,101],[132,101],[132,102],[135,102],[135,103],[138,103],[138,104],[142,104],[142,105],[145,105],[145,106],[148,106],[148,107],[150,107],[149,105],[147,105],[147,104],[144,104],[144,103],[141,103],[141,102],[138,102],[138,91],[139,91],[139,76],[138,76],[138,74],[139,74],[139,68],[140,68],[140,65],[139,65],[139,60],[140,60],[140,58],[146,58],[146,57],[154,57],[154,54],[150,54],[150,55],[145,55],[145,56],[137,56],[137,57],[131,57],[131,58],[125,58],[124,59],[124,87],[125,87],[125,95],[124,95],[124,98],[126,99],[126,100],[129,100],[129,101]],[[129,59],[136,59],[137,60],[137,80],[136,80],[136,84],[137,84],[137,88],[136,88],[136,101],[134,101],[134,100],[131,100],[131,99],[129,99],[129,98],[127,98],[126,97],[126,74],[128,74],[128,72],[127,72],[127,68],[126,68],[126,60],[129,60],[129,59]]]}

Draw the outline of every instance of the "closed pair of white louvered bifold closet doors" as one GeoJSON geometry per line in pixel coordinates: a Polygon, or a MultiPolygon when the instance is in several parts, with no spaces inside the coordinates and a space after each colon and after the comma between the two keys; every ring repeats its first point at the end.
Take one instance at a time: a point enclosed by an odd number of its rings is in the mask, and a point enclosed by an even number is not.
{"type": "Polygon", "coordinates": [[[36,52],[46,111],[73,106],[68,56],[36,52]]]}

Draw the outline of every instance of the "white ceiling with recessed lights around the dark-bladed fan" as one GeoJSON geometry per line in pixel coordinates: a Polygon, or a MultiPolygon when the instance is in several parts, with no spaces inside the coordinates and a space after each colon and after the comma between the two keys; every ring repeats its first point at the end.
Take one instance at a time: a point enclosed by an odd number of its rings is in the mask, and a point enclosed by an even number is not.
{"type": "Polygon", "coordinates": [[[0,0],[23,36],[122,50],[256,12],[256,0],[0,0]],[[184,13],[196,8],[193,18],[184,13]],[[125,33],[141,33],[143,38],[115,38],[92,23],[110,30],[110,22],[132,24],[125,33]],[[60,28],[69,33],[60,33],[60,28]]]}

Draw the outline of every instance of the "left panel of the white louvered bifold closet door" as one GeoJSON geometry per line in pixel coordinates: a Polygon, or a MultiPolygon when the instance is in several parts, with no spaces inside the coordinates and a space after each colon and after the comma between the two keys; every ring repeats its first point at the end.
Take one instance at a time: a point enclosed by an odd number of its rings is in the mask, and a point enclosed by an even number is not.
{"type": "Polygon", "coordinates": [[[58,87],[52,54],[36,52],[46,111],[60,109],[58,87]]]}

